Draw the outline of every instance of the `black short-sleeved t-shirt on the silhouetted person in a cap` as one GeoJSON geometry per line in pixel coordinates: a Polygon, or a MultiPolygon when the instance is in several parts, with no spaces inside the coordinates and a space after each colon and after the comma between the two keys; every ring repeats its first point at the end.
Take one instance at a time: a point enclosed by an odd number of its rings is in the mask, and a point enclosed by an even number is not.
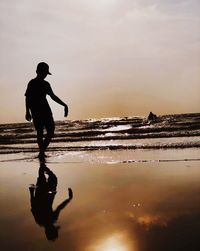
{"type": "Polygon", "coordinates": [[[53,94],[50,84],[45,80],[38,78],[32,79],[28,83],[25,93],[32,116],[52,115],[51,108],[46,99],[46,95],[53,94]]]}

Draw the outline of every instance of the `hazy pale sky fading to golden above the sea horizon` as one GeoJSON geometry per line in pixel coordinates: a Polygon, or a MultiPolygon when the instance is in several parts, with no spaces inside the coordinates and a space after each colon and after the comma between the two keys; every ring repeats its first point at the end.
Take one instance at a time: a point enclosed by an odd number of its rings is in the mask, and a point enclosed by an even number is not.
{"type": "Polygon", "coordinates": [[[0,123],[25,121],[41,61],[70,120],[200,112],[199,0],[1,0],[0,12],[0,123]]]}

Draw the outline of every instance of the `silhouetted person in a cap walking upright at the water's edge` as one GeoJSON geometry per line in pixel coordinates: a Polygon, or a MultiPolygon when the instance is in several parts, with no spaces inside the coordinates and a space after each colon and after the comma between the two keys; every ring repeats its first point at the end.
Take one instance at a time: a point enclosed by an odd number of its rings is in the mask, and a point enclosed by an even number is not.
{"type": "Polygon", "coordinates": [[[68,115],[68,106],[60,100],[52,91],[50,84],[45,81],[49,72],[48,64],[41,62],[36,69],[37,76],[28,83],[25,93],[26,96],[26,120],[33,123],[37,131],[37,143],[40,153],[39,158],[45,156],[51,139],[54,135],[55,124],[52,116],[51,108],[47,102],[46,95],[49,95],[55,102],[64,106],[64,116],[68,115]],[[44,129],[46,129],[46,136],[44,137],[44,129]]]}

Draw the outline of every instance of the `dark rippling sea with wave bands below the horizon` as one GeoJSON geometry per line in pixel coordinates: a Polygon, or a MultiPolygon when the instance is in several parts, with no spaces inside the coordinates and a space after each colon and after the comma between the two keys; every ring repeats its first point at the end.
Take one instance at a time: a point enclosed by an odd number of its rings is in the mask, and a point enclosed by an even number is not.
{"type": "MultiPolygon", "coordinates": [[[[48,152],[65,155],[70,152],[99,153],[104,150],[105,153],[107,150],[118,150],[119,153],[134,150],[137,155],[144,150],[176,149],[178,152],[180,149],[194,148],[197,151],[200,147],[199,136],[200,113],[163,115],[155,120],[136,116],[65,120],[56,121],[55,136],[48,152]]],[[[0,125],[0,154],[30,154],[37,151],[36,132],[32,123],[0,125]]],[[[188,159],[198,159],[198,155],[199,151],[195,156],[188,156],[188,159]]],[[[171,158],[168,156],[167,160],[171,158]]],[[[128,160],[133,159],[125,161],[128,160]]]]}

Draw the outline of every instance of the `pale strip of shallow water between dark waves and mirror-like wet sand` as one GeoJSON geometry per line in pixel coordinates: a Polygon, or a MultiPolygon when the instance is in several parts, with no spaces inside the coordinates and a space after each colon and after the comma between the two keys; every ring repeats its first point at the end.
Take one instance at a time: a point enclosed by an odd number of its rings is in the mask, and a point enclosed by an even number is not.
{"type": "MultiPolygon", "coordinates": [[[[25,161],[35,162],[38,152],[0,154],[0,163],[25,161]]],[[[46,152],[47,163],[101,163],[127,164],[145,162],[192,162],[200,161],[200,148],[185,149],[137,149],[137,150],[93,150],[46,152]]]]}

